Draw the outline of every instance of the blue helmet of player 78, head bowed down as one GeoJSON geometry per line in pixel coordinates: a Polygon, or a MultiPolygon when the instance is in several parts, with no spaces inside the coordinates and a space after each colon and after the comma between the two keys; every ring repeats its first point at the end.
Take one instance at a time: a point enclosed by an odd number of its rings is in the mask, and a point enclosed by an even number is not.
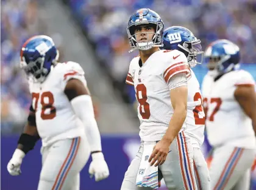
{"type": "Polygon", "coordinates": [[[20,52],[20,67],[27,76],[42,83],[51,71],[51,66],[57,64],[59,51],[52,38],[44,35],[27,39],[20,52]]]}

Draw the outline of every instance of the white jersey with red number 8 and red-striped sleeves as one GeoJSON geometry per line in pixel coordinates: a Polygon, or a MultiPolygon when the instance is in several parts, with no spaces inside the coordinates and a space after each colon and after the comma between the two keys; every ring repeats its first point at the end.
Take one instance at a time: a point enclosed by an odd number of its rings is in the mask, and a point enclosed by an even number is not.
{"type": "MultiPolygon", "coordinates": [[[[161,140],[173,114],[168,82],[177,73],[191,76],[187,57],[178,50],[159,50],[140,67],[140,56],[130,62],[126,83],[135,88],[144,141],[161,140]]],[[[181,131],[186,128],[183,124],[181,131]]]]}

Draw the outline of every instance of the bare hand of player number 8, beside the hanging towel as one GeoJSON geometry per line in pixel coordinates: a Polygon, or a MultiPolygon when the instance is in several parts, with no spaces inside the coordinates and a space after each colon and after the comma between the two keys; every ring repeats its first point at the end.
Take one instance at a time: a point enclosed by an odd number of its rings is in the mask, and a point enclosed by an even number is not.
{"type": "Polygon", "coordinates": [[[162,140],[158,141],[158,143],[155,144],[153,152],[149,157],[149,162],[151,166],[153,166],[156,161],[157,163],[155,163],[155,166],[162,165],[165,162],[169,152],[170,144],[171,141],[164,138],[162,138],[162,140]]]}

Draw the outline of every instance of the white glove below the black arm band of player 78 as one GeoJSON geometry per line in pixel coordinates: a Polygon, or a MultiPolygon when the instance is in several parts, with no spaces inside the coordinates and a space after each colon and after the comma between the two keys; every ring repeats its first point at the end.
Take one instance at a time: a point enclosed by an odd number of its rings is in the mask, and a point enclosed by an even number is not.
{"type": "Polygon", "coordinates": [[[25,153],[20,149],[16,149],[12,155],[12,159],[10,159],[7,170],[10,175],[20,175],[21,174],[21,163],[25,156],[25,153]]]}

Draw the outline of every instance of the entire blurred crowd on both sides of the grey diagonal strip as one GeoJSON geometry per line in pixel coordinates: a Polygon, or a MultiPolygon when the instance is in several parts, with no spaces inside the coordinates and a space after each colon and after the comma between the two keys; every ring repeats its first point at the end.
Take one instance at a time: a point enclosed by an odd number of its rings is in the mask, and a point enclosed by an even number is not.
{"type": "MultiPolygon", "coordinates": [[[[39,0],[38,0],[39,1],[39,0]]],[[[1,1],[1,127],[8,133],[20,130],[30,95],[24,76],[18,71],[20,48],[32,35],[45,34],[47,25],[39,14],[38,1],[1,1]]],[[[95,47],[96,56],[123,93],[133,102],[133,89],[124,84],[130,59],[126,27],[129,16],[141,7],[160,14],[165,28],[188,27],[202,47],[218,38],[236,42],[243,63],[256,60],[256,1],[254,0],[64,0],[95,47]]],[[[56,41],[55,41],[56,42],[56,41]]],[[[58,46],[58,44],[57,44],[58,46]]],[[[60,54],[62,55],[62,54],[60,54]]]]}

